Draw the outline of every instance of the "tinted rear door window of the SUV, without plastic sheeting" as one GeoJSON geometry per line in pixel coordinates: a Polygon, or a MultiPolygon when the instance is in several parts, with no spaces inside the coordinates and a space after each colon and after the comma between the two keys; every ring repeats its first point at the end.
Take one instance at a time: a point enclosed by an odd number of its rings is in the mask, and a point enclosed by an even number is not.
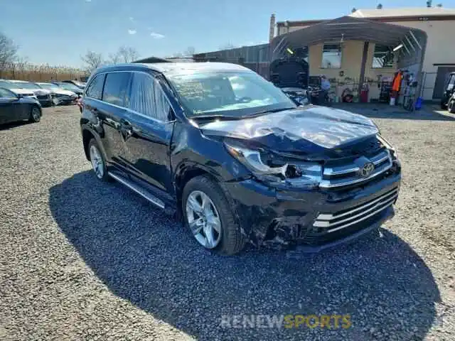
{"type": "Polygon", "coordinates": [[[106,75],[105,90],[102,93],[102,100],[124,107],[129,102],[129,79],[130,72],[112,72],[106,75]]]}

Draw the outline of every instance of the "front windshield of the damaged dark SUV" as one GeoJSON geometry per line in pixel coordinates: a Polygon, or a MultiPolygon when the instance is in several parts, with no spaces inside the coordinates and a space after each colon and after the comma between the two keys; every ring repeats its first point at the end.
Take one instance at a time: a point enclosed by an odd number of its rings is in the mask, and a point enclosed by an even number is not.
{"type": "Polygon", "coordinates": [[[188,117],[244,117],[257,112],[294,108],[279,88],[255,72],[201,72],[168,75],[188,117]]]}

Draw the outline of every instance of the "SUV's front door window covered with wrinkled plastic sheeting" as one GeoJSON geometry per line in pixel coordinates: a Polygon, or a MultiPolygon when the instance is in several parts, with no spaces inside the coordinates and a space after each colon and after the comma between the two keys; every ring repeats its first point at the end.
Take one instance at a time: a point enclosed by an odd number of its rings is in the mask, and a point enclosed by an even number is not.
{"type": "Polygon", "coordinates": [[[129,109],[159,121],[168,121],[171,106],[159,82],[145,73],[134,73],[129,109]]]}

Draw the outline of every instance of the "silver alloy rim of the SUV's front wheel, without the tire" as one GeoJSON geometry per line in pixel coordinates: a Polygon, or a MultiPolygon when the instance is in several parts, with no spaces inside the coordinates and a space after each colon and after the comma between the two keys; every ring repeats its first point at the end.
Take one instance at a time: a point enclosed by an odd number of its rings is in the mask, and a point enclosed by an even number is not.
{"type": "Polygon", "coordinates": [[[200,190],[193,190],[186,200],[186,219],[193,236],[203,247],[213,249],[220,244],[220,215],[213,201],[200,190]]]}

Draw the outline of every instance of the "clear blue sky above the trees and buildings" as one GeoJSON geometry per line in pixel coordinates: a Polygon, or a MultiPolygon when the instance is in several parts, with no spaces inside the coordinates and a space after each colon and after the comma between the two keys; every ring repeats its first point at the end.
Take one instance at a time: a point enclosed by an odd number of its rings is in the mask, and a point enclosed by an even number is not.
{"type": "MultiPolygon", "coordinates": [[[[426,6],[426,0],[0,0],[0,31],[30,63],[82,67],[87,50],[120,46],[141,58],[267,43],[277,21],[337,18],[357,9],[426,6]]],[[[455,8],[455,0],[442,2],[455,8]]]]}

